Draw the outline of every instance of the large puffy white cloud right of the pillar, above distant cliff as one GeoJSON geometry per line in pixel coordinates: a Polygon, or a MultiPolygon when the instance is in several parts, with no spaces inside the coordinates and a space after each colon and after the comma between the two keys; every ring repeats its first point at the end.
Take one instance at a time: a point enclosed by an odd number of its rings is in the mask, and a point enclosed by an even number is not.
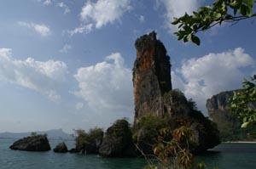
{"type": "Polygon", "coordinates": [[[251,66],[255,69],[255,63],[256,60],[242,48],[189,59],[176,72],[183,76],[184,81],[172,75],[173,86],[179,87],[188,98],[194,99],[201,110],[206,110],[206,101],[212,95],[241,87],[243,78],[249,76],[242,69],[251,66]]]}

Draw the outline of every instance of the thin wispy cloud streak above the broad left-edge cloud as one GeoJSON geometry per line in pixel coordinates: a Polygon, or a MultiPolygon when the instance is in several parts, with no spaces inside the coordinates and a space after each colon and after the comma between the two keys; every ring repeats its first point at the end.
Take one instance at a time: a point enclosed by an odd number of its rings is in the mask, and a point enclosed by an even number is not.
{"type": "Polygon", "coordinates": [[[18,22],[18,25],[27,27],[29,29],[32,29],[33,31],[36,31],[38,34],[40,34],[42,37],[47,37],[50,34],[49,26],[44,24],[34,24],[34,23],[26,23],[26,22],[18,22]]]}

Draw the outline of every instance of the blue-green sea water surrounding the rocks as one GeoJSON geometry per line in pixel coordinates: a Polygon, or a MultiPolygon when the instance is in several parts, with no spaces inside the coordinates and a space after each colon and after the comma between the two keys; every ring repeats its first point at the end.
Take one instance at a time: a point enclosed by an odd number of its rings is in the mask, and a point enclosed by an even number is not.
{"type": "MultiPolygon", "coordinates": [[[[51,148],[63,140],[49,140],[51,148]]],[[[0,169],[142,169],[143,158],[101,158],[98,155],[55,154],[48,152],[26,152],[9,149],[15,142],[12,138],[0,138],[0,169]]],[[[68,149],[73,141],[65,141],[68,149]]],[[[205,155],[196,156],[213,169],[256,168],[256,144],[220,144],[205,155]]]]}

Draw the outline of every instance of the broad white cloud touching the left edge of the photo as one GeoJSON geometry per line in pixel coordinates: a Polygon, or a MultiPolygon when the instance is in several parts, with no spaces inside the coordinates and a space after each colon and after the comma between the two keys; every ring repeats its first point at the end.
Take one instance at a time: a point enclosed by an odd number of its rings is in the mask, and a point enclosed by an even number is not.
{"type": "Polygon", "coordinates": [[[30,88],[57,102],[61,96],[56,87],[65,80],[67,65],[61,61],[14,59],[10,48],[0,48],[0,76],[8,82],[30,88]]]}

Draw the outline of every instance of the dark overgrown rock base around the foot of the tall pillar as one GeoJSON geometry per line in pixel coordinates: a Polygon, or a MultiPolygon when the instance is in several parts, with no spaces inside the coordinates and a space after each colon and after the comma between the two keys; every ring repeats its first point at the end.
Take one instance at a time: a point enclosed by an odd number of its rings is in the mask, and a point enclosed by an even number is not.
{"type": "Polygon", "coordinates": [[[135,138],[137,146],[143,150],[144,154],[152,155],[152,145],[158,137],[161,128],[169,127],[171,130],[181,126],[182,122],[189,124],[194,132],[195,146],[191,147],[194,153],[201,153],[207,149],[212,149],[220,144],[219,132],[216,125],[208,120],[199,110],[195,110],[189,101],[179,90],[172,90],[163,97],[164,104],[172,108],[172,116],[164,118],[160,116],[143,116],[135,125],[135,138]],[[187,111],[186,113],[183,113],[187,111]],[[145,118],[148,124],[145,123],[145,118]],[[180,122],[182,121],[182,122],[180,122]]]}

